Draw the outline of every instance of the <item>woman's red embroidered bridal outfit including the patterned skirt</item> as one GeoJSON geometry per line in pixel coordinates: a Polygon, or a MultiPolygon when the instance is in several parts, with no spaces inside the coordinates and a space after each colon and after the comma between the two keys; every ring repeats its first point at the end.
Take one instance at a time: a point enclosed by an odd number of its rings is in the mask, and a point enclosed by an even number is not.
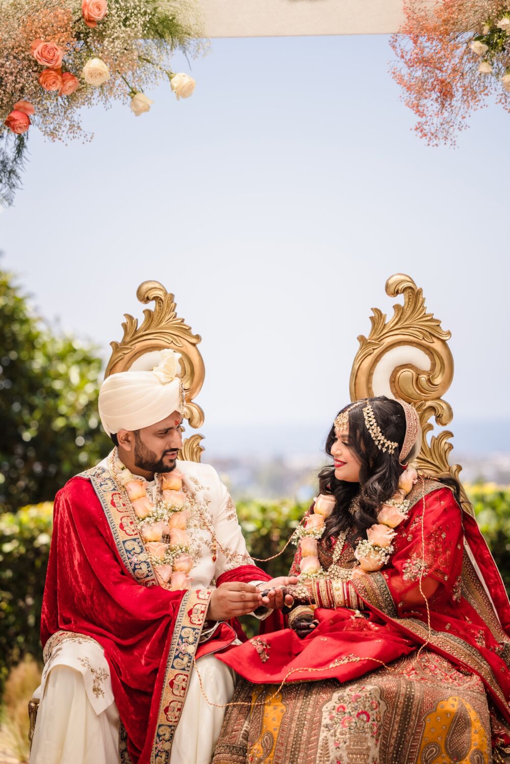
{"type": "MultiPolygon", "coordinates": [[[[275,616],[271,633],[217,656],[249,681],[233,698],[241,705],[227,709],[213,764],[510,761],[501,576],[450,488],[421,478],[408,499],[388,564],[349,584],[362,617],[317,608],[319,626],[299,639],[275,616]],[[425,577],[438,581],[436,591],[406,606],[425,577]]],[[[333,549],[321,540],[319,550],[326,569],[333,549]]],[[[339,565],[356,562],[344,545],[339,565]]]]}

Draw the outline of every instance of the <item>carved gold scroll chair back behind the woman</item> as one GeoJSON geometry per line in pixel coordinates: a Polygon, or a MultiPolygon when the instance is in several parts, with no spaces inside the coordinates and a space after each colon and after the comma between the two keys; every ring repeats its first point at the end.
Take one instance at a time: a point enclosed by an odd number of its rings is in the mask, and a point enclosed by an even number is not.
{"type": "MultiPolygon", "coordinates": [[[[434,429],[430,419],[446,426],[453,419],[450,403],[443,400],[453,380],[453,357],[447,341],[450,332],[441,328],[439,319],[427,312],[423,292],[411,277],[395,274],[386,282],[390,297],[404,296],[404,304],[394,306],[389,321],[385,313],[372,308],[369,336],[359,336],[359,350],[352,364],[351,400],[386,395],[412,403],[420,415],[423,432],[417,466],[437,477],[459,479],[460,465],[450,465],[453,448],[450,430],[428,435],[434,429]]],[[[473,514],[465,490],[462,503],[473,514]]]]}

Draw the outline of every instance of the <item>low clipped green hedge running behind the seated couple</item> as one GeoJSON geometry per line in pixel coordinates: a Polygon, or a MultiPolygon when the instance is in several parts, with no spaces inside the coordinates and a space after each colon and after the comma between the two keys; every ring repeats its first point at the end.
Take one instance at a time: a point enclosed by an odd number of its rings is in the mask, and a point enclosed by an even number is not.
{"type": "MultiPolygon", "coordinates": [[[[470,486],[469,497],[510,591],[510,487],[470,486]]],[[[306,508],[291,501],[239,502],[239,521],[252,555],[278,554],[306,508]]],[[[51,521],[50,502],[0,516],[0,685],[24,654],[41,659],[39,626],[51,521]]],[[[288,545],[282,555],[258,565],[271,575],[287,575],[294,551],[288,545]]],[[[251,633],[249,622],[245,625],[251,633]]]]}

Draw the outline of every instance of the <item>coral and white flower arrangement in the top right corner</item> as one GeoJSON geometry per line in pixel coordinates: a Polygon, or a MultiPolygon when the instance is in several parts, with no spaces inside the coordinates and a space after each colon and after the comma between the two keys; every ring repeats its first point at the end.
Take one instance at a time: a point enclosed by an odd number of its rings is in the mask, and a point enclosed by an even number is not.
{"type": "Polygon", "coordinates": [[[391,74],[432,145],[456,143],[466,117],[489,95],[510,112],[508,0],[404,0],[406,21],[391,38],[391,74]]]}

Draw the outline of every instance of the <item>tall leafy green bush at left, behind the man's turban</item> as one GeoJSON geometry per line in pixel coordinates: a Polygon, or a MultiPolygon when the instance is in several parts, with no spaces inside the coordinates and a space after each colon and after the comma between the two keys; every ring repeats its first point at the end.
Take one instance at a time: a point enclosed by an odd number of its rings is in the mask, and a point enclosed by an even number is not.
{"type": "Polygon", "coordinates": [[[0,270],[0,511],[53,499],[109,449],[93,348],[55,335],[0,270]]]}

